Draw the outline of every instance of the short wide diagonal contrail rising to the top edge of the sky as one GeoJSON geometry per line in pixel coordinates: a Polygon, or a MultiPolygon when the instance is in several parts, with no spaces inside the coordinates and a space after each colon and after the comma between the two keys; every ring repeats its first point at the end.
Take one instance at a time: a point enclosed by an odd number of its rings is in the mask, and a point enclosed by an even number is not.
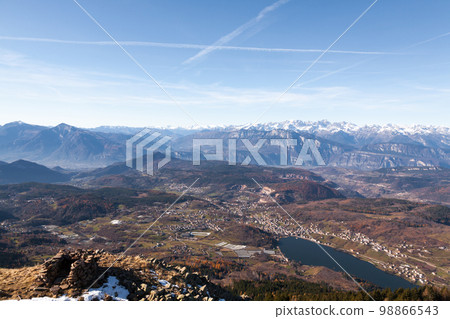
{"type": "Polygon", "coordinates": [[[239,36],[240,34],[242,34],[244,31],[248,30],[249,28],[255,26],[257,23],[259,23],[262,19],[264,19],[264,17],[278,9],[280,6],[282,6],[283,4],[289,2],[289,0],[278,0],[277,2],[271,4],[270,6],[265,7],[264,9],[262,9],[259,14],[254,17],[253,19],[247,21],[246,23],[244,23],[243,25],[241,25],[240,27],[238,27],[237,29],[233,30],[232,32],[228,33],[227,35],[224,35],[223,37],[221,37],[219,40],[217,40],[216,42],[214,42],[211,46],[201,50],[199,53],[197,53],[196,55],[194,55],[193,57],[190,57],[189,59],[187,59],[186,61],[183,62],[183,64],[189,64],[201,57],[204,57],[205,55],[211,53],[212,51],[216,50],[216,47],[218,46],[222,46],[224,44],[227,44],[228,42],[230,42],[231,40],[233,40],[234,38],[236,38],[237,36],[239,36]]]}

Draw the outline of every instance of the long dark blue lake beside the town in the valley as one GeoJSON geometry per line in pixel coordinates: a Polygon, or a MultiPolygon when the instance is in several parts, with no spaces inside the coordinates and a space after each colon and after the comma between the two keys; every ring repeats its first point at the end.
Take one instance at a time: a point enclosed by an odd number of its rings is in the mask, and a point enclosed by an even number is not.
{"type": "MultiPolygon", "coordinates": [[[[282,238],[279,241],[281,252],[288,258],[304,265],[324,266],[342,272],[342,269],[317,246],[316,243],[295,237],[282,238]]],[[[409,281],[384,272],[369,262],[331,247],[322,247],[351,275],[369,281],[382,288],[417,287],[409,281]]]]}

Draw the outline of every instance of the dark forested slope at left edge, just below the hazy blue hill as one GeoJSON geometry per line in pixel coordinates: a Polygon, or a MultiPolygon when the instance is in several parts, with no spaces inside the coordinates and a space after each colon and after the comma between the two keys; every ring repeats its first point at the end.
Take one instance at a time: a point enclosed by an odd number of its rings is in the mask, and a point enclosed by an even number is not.
{"type": "MultiPolygon", "coordinates": [[[[66,185],[25,183],[0,186],[0,209],[27,225],[68,225],[114,214],[121,206],[171,203],[176,194],[123,188],[85,190],[66,185]],[[18,195],[18,193],[20,193],[18,195]]],[[[181,199],[185,201],[189,196],[181,199]]],[[[158,204],[157,204],[158,205],[158,204]]]]}

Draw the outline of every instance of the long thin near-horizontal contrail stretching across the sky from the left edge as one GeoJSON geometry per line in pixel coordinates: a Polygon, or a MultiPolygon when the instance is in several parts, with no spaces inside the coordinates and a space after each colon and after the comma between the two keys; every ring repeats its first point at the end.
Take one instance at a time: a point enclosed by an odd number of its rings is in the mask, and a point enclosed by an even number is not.
{"type": "MultiPolygon", "coordinates": [[[[80,41],[80,40],[61,40],[51,38],[31,38],[31,37],[10,37],[0,36],[0,40],[4,41],[23,41],[23,42],[42,42],[55,44],[75,44],[75,45],[117,45],[113,41],[80,41]]],[[[151,42],[151,41],[117,41],[123,46],[144,46],[144,47],[158,47],[169,49],[207,49],[211,45],[204,44],[189,44],[189,43],[167,43],[167,42],[151,42]]],[[[232,50],[232,51],[255,51],[255,52],[272,52],[272,53],[320,53],[325,50],[322,49],[291,49],[291,48],[261,48],[261,47],[242,47],[242,46],[214,46],[214,50],[232,50]]],[[[341,54],[362,54],[362,55],[391,55],[392,52],[383,51],[355,51],[355,50],[329,50],[329,53],[341,54]]]]}

